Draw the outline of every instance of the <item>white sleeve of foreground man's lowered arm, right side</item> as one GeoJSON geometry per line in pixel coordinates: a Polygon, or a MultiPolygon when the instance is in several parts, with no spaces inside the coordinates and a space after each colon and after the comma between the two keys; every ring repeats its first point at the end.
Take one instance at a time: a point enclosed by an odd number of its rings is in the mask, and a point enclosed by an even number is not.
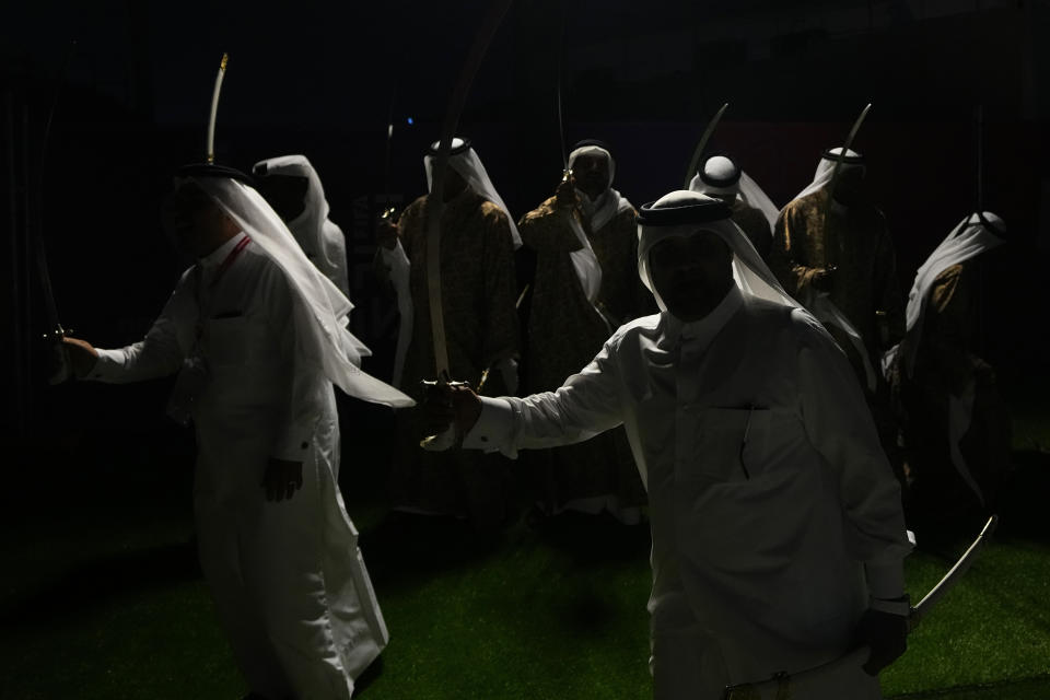
{"type": "Polygon", "coordinates": [[[876,598],[905,592],[903,558],[911,551],[905,528],[900,485],[883,452],[871,411],[842,351],[819,322],[803,334],[798,351],[798,388],[806,433],[839,479],[839,498],[848,523],[847,546],[864,562],[876,598]]]}

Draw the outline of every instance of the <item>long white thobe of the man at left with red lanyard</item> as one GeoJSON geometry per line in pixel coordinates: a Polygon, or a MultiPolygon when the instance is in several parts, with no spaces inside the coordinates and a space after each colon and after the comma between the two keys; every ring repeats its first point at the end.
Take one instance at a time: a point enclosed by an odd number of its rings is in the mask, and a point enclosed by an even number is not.
{"type": "Polygon", "coordinates": [[[349,698],[388,635],[337,483],[335,393],[299,360],[281,269],[249,242],[221,271],[244,237],[183,275],[144,340],[100,350],[90,378],[172,374],[199,328],[209,380],[192,412],[194,504],[220,621],[254,691],[349,698]],[[290,500],[265,500],[271,457],[303,465],[290,500]]]}

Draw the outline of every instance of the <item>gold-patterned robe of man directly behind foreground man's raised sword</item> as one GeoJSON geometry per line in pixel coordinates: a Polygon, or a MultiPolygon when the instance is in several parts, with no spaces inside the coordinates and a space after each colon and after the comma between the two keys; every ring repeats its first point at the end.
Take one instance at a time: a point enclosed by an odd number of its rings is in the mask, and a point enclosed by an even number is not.
{"type": "MultiPolygon", "coordinates": [[[[412,339],[401,386],[421,399],[420,382],[435,375],[427,276],[427,197],[398,220],[398,236],[411,264],[415,306],[412,339]]],[[[520,357],[514,311],[514,247],[508,214],[471,190],[446,202],[441,218],[441,294],[448,370],[454,380],[478,386],[481,373],[500,360],[520,357]]],[[[505,393],[491,372],[486,393],[505,393]]],[[[425,452],[423,424],[415,411],[397,416],[397,455],[390,474],[395,508],[466,515],[479,528],[498,525],[506,501],[505,460],[466,451],[425,452]]]]}

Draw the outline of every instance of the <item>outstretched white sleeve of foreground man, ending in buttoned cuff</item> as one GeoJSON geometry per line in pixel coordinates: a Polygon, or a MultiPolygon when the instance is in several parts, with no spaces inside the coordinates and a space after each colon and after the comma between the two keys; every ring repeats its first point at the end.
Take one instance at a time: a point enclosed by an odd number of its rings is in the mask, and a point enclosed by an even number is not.
{"type": "Polygon", "coordinates": [[[621,424],[622,392],[615,341],[606,342],[591,364],[556,392],[526,398],[481,397],[481,415],[465,435],[464,447],[499,451],[513,458],[518,450],[583,442],[621,424]]]}

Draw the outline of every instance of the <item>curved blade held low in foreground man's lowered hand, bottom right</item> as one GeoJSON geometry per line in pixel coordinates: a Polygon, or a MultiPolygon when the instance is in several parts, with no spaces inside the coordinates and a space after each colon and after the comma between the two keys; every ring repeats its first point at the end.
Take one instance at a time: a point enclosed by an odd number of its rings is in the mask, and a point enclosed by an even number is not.
{"type": "MultiPolygon", "coordinates": [[[[959,579],[969,570],[977,558],[977,552],[983,547],[985,539],[995,530],[998,524],[998,515],[989,517],[984,527],[981,528],[981,534],[962,552],[962,556],[948,570],[948,573],[944,574],[944,578],[930,590],[930,593],[919,602],[919,605],[911,608],[911,614],[908,616],[909,631],[915,629],[930,610],[940,603],[941,598],[959,582],[959,579]]],[[[833,677],[840,672],[855,672],[867,662],[870,654],[871,650],[867,646],[860,646],[827,664],[793,675],[781,673],[769,680],[726,686],[723,698],[724,700],[775,700],[791,697],[792,693],[797,693],[798,697],[808,697],[806,695],[808,691],[826,684],[829,677],[833,677]]]]}

